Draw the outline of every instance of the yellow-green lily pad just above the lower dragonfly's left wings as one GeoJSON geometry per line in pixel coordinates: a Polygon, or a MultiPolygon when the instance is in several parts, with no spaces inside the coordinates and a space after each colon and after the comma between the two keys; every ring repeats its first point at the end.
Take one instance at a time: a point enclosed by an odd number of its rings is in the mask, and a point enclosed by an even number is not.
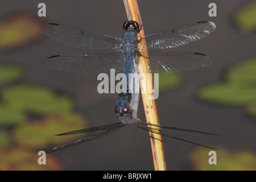
{"type": "Polygon", "coordinates": [[[52,145],[64,144],[81,137],[81,135],[55,136],[56,134],[84,128],[86,128],[86,119],[83,115],[65,112],[23,123],[14,130],[13,136],[20,146],[46,150],[53,148],[52,145]]]}

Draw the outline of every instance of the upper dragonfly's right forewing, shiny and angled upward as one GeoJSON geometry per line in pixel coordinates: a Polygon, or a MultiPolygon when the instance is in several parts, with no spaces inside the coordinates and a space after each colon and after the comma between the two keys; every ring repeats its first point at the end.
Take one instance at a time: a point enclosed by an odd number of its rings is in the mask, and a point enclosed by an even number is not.
{"type": "Polygon", "coordinates": [[[182,46],[203,38],[215,29],[213,22],[197,22],[173,30],[147,34],[147,48],[166,49],[182,46]]]}

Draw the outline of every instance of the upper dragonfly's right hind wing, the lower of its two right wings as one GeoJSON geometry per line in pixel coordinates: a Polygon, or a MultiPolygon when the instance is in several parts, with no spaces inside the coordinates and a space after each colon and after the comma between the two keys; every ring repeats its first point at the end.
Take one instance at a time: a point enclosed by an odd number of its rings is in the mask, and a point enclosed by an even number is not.
{"type": "Polygon", "coordinates": [[[206,67],[210,57],[196,52],[162,52],[148,50],[152,73],[166,75],[206,67]]]}

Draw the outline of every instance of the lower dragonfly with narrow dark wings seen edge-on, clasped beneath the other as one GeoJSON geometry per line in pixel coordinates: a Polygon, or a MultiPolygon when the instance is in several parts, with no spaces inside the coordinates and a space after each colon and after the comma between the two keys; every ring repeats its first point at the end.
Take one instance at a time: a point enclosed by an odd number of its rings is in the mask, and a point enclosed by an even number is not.
{"type": "MultiPolygon", "coordinates": [[[[137,64],[135,63],[135,60],[133,60],[133,61],[134,61],[133,73],[138,74],[137,64]]],[[[135,88],[138,88],[136,86],[139,86],[139,79],[134,79],[133,81],[134,81],[133,86],[134,86],[134,90],[135,90],[135,88]]],[[[126,100],[126,103],[125,103],[125,107],[123,109],[123,113],[119,113],[118,107],[115,106],[115,113],[117,113],[117,115],[118,115],[119,122],[112,123],[112,124],[109,124],[109,125],[104,125],[104,126],[91,127],[91,128],[88,128],[88,129],[82,129],[82,130],[70,131],[70,132],[63,133],[63,134],[58,134],[58,136],[60,136],[60,135],[62,136],[62,135],[73,135],[73,134],[80,134],[80,133],[89,133],[89,132],[93,132],[93,131],[103,131],[99,134],[92,135],[91,137],[80,139],[80,140],[77,140],[76,142],[65,144],[64,146],[61,146],[61,147],[58,147],[58,148],[55,147],[51,151],[48,151],[47,153],[60,151],[60,150],[63,150],[64,148],[72,147],[72,146],[75,146],[77,144],[81,144],[81,143],[85,143],[85,142],[89,142],[89,141],[92,141],[92,140],[96,140],[96,139],[106,137],[106,136],[108,136],[110,134],[113,134],[116,131],[122,129],[122,127],[126,126],[126,125],[137,126],[140,129],[150,131],[152,133],[156,133],[156,134],[159,134],[159,135],[162,135],[162,136],[165,136],[165,137],[174,138],[174,139],[177,139],[177,140],[182,140],[184,142],[196,144],[198,146],[211,148],[211,149],[217,149],[217,148],[205,146],[203,144],[191,142],[189,140],[185,140],[185,139],[182,139],[182,138],[174,137],[172,135],[162,133],[159,130],[150,129],[150,127],[143,127],[143,126],[138,125],[139,123],[141,123],[141,124],[147,125],[147,126],[158,127],[159,129],[191,131],[191,132],[201,133],[201,134],[218,135],[218,134],[206,133],[206,132],[203,132],[203,131],[183,129],[183,128],[180,128],[180,127],[163,126],[163,125],[156,125],[156,124],[152,124],[152,123],[143,122],[143,121],[141,121],[141,119],[137,118],[137,111],[138,111],[138,104],[139,104],[139,93],[138,92],[127,93],[127,94],[120,93],[118,101],[117,101],[117,105],[119,104],[119,102],[123,102],[124,100],[126,100]]]]}

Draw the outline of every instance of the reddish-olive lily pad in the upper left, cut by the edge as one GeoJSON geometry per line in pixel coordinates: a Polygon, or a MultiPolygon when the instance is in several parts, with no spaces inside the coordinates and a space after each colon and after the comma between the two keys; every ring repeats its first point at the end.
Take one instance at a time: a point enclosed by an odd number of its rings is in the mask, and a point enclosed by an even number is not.
{"type": "Polygon", "coordinates": [[[0,22],[0,52],[24,46],[42,36],[43,23],[38,16],[20,13],[0,22]]]}

